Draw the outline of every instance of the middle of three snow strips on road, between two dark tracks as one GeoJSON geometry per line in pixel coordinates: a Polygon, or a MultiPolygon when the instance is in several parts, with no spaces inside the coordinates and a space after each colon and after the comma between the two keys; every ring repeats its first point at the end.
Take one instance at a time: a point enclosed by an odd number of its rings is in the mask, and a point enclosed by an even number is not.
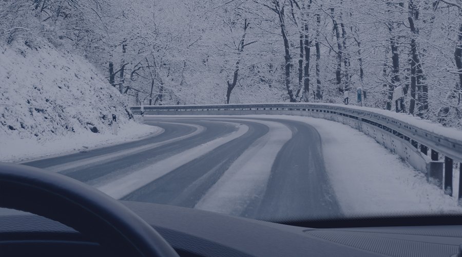
{"type": "Polygon", "coordinates": [[[201,145],[195,146],[194,148],[188,149],[179,154],[170,156],[121,178],[110,182],[104,182],[103,185],[95,185],[95,187],[115,199],[120,199],[127,194],[169,173],[170,171],[180,168],[189,161],[199,158],[200,156],[210,151],[213,151],[218,146],[239,138],[248,131],[248,126],[246,125],[233,122],[226,123],[236,125],[238,130],[223,137],[219,137],[201,145]]]}

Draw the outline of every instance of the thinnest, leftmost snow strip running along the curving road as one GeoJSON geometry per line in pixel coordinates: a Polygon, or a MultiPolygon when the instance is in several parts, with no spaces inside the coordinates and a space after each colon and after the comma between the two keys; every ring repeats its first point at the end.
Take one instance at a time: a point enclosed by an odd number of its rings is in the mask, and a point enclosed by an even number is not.
{"type": "Polygon", "coordinates": [[[133,154],[144,152],[150,149],[155,149],[155,148],[158,148],[159,146],[166,145],[168,143],[177,142],[179,140],[183,140],[183,139],[198,135],[206,130],[204,126],[196,125],[196,124],[184,124],[184,123],[175,123],[175,122],[163,122],[163,123],[182,124],[182,125],[186,125],[190,127],[195,127],[196,130],[192,133],[186,134],[181,137],[171,138],[171,139],[167,139],[167,140],[157,142],[157,143],[150,143],[150,144],[146,144],[142,146],[137,146],[135,148],[117,151],[117,152],[113,152],[109,154],[103,154],[99,156],[94,156],[94,157],[89,157],[85,159],[63,163],[63,164],[58,164],[55,166],[47,167],[46,169],[48,171],[62,172],[62,174],[66,174],[66,172],[63,172],[63,171],[83,169],[85,167],[90,167],[90,166],[94,166],[97,164],[106,163],[106,162],[109,162],[111,160],[117,159],[122,156],[133,155],[133,154]]]}

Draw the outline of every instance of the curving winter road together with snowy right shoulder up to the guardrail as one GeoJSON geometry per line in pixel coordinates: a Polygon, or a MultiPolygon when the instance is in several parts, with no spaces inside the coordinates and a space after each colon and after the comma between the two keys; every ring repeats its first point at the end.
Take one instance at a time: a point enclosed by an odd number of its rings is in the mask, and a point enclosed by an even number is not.
{"type": "Polygon", "coordinates": [[[425,176],[362,133],[291,116],[158,116],[138,141],[24,164],[110,196],[280,217],[457,208],[425,176]]]}

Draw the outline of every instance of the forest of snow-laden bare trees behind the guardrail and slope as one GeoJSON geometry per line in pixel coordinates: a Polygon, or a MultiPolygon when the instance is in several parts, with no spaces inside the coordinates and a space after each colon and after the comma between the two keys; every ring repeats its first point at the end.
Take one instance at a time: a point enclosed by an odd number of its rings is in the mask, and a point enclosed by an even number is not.
{"type": "Polygon", "coordinates": [[[81,53],[131,104],[362,104],[462,127],[462,0],[0,1],[0,39],[81,53]],[[365,93],[365,94],[364,94],[365,93]]]}

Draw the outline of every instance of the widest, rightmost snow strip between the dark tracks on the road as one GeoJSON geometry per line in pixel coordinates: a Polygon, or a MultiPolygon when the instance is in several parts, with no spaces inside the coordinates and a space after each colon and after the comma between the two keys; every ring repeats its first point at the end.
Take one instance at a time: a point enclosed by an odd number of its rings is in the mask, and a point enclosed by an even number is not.
{"type": "Polygon", "coordinates": [[[233,162],[194,208],[239,215],[264,192],[276,155],[292,138],[292,132],[278,122],[254,121],[268,126],[269,132],[233,162]]]}

